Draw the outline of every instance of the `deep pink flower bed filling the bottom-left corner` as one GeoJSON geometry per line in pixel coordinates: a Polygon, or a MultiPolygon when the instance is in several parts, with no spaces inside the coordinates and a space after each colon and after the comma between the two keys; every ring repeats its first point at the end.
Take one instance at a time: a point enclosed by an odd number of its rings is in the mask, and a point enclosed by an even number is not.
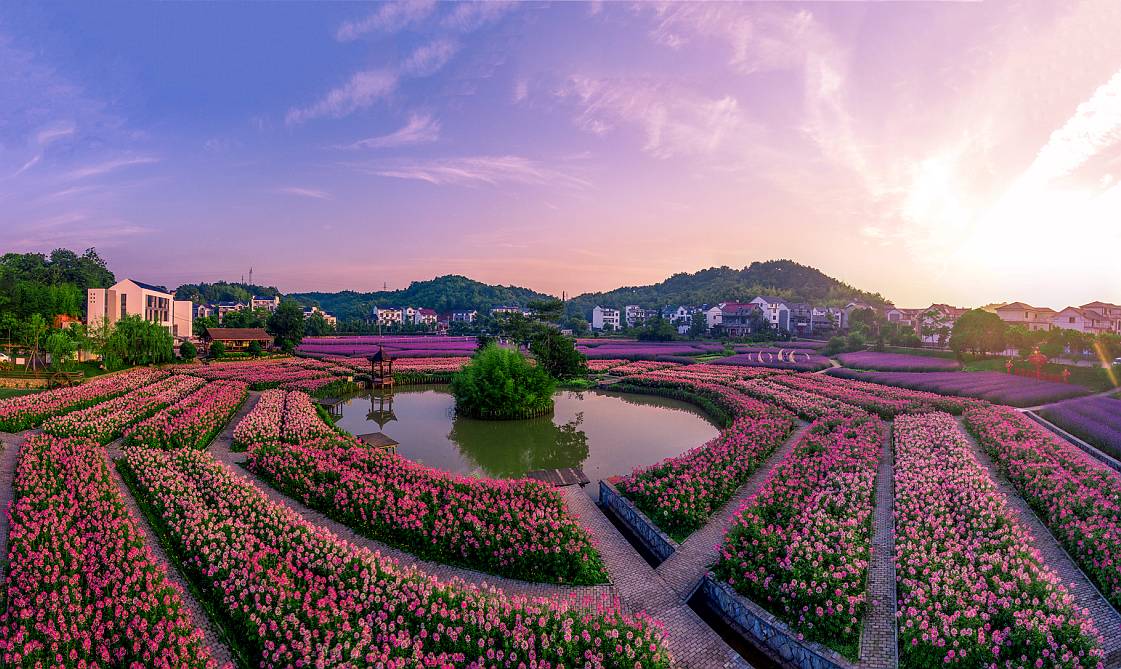
{"type": "Polygon", "coordinates": [[[28,438],[13,485],[0,663],[216,667],[95,443],[28,438]]]}

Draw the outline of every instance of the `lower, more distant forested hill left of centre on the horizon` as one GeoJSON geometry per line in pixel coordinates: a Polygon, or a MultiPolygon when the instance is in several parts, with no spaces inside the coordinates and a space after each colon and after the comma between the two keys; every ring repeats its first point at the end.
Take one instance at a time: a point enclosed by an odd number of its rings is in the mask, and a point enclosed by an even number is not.
{"type": "Polygon", "coordinates": [[[448,275],[428,281],[413,281],[401,290],[379,290],[374,292],[294,292],[293,297],[305,305],[318,305],[323,310],[340,318],[365,317],[374,306],[380,307],[429,307],[437,312],[456,309],[479,309],[480,312],[499,305],[526,306],[530,300],[547,296],[518,286],[491,286],[448,275]]]}

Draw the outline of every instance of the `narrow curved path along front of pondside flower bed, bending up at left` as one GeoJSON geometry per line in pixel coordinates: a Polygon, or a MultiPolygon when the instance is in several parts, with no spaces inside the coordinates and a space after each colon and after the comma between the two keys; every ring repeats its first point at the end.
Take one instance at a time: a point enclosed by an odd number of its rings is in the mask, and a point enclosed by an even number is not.
{"type": "Polygon", "coordinates": [[[254,407],[257,401],[260,399],[259,392],[250,392],[249,394],[249,401],[245,402],[242,410],[234,416],[234,418],[230,421],[230,425],[226,426],[225,430],[223,430],[222,434],[214,439],[214,443],[211,444],[210,453],[215,459],[225,464],[234,475],[241,476],[245,481],[256,485],[257,489],[271,501],[288,507],[309,522],[331,530],[337,537],[355,546],[361,546],[369,548],[371,551],[380,552],[383,557],[395,559],[401,565],[415,566],[417,569],[435,576],[441,580],[455,579],[479,586],[483,589],[493,587],[508,594],[525,595],[528,597],[575,598],[577,602],[587,603],[590,606],[595,606],[597,604],[610,605],[614,603],[615,589],[610,584],[594,586],[565,586],[548,583],[529,583],[526,580],[494,576],[493,574],[484,574],[482,572],[475,572],[464,567],[442,565],[424,560],[410,552],[359,535],[345,524],[303,504],[298,500],[287,496],[241,466],[242,463],[245,462],[244,453],[233,453],[230,450],[230,443],[233,439],[234,428],[241,418],[245,414],[249,414],[249,411],[252,410],[252,407],[254,407]]]}

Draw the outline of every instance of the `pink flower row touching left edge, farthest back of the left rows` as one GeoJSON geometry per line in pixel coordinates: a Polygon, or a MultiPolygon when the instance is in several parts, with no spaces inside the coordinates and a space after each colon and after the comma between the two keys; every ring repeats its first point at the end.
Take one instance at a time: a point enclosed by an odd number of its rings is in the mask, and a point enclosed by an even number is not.
{"type": "Polygon", "coordinates": [[[2,399],[0,400],[0,430],[18,433],[35,427],[47,418],[62,416],[68,411],[76,411],[120,397],[166,375],[166,372],[137,369],[95,379],[72,388],[56,388],[45,392],[2,399]]]}

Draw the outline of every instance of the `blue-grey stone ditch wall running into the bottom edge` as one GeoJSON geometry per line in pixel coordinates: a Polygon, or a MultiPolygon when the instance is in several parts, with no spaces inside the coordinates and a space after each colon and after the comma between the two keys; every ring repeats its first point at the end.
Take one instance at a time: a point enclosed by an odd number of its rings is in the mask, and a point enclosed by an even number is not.
{"type": "Polygon", "coordinates": [[[701,596],[728,619],[751,645],[787,667],[797,669],[855,669],[835,650],[813,641],[799,641],[798,633],[760,606],[744,598],[712,574],[701,583],[701,596]]]}

